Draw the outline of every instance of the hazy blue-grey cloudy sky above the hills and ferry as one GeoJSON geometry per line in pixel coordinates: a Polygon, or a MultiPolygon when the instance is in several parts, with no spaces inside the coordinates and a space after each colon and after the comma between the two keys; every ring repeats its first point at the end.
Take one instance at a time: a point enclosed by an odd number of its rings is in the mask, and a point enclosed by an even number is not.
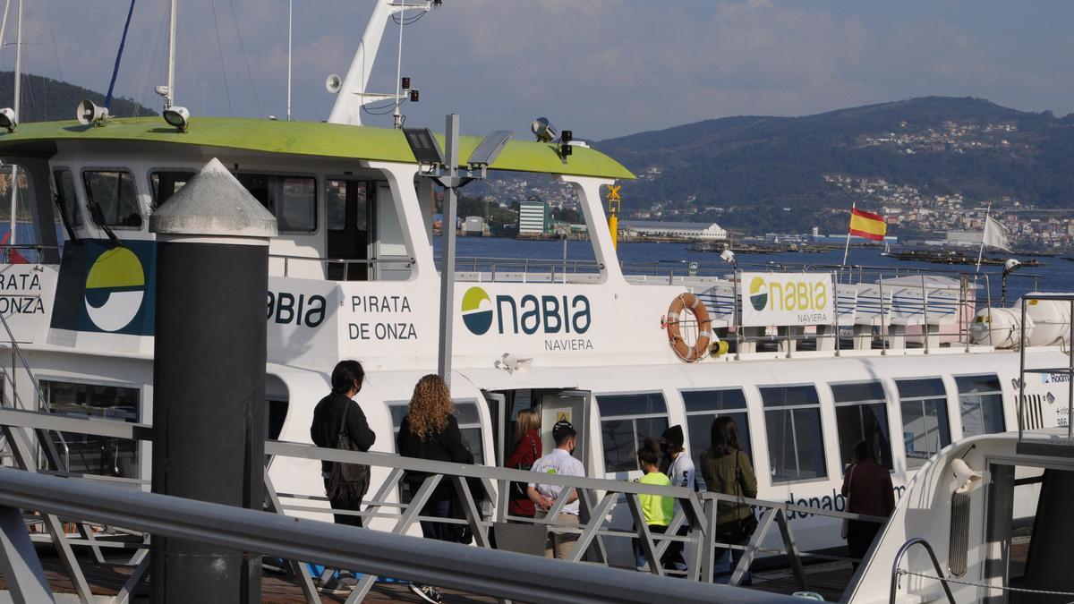
{"type": "MultiPolygon", "coordinates": [[[[17,1],[0,48],[8,70],[17,1]]],[[[178,1],[176,103],[194,117],[282,118],[287,0],[178,1]]],[[[346,73],[374,1],[293,0],[295,119],[328,116],[324,78],[346,73]]],[[[128,6],[27,1],[24,70],[105,91],[128,6]]],[[[117,96],[158,111],[165,19],[166,0],[136,0],[116,82],[117,96]]],[[[1065,115],[1074,112],[1072,21],[1065,0],[444,0],[403,30],[403,75],[421,90],[403,112],[407,126],[439,130],[455,112],[466,133],[526,136],[547,116],[593,140],[927,95],[1065,115]]],[[[394,91],[397,41],[391,24],[371,91],[394,91]]]]}

